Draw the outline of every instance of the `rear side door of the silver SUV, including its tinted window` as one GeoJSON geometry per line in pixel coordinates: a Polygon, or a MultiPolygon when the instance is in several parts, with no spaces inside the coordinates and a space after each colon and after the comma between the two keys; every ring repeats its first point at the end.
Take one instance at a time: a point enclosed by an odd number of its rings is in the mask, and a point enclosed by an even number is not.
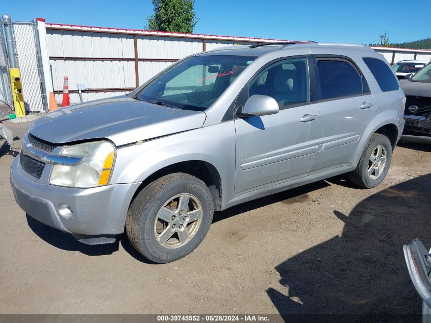
{"type": "Polygon", "coordinates": [[[377,114],[376,102],[359,67],[345,57],[316,56],[320,127],[313,171],[354,166],[353,155],[377,114]]]}

